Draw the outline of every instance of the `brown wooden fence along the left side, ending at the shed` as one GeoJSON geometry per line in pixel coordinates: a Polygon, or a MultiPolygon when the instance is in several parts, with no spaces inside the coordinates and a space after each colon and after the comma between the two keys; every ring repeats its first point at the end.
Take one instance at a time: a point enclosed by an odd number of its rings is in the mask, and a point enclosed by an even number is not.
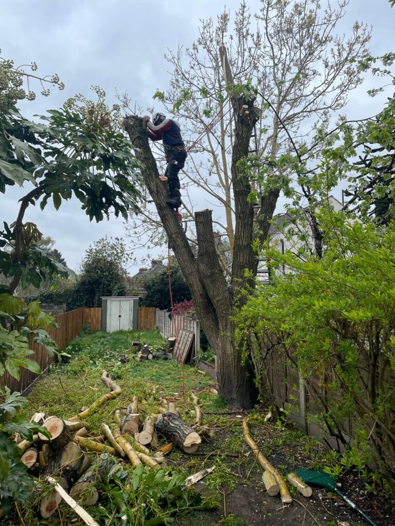
{"type": "MultiPolygon", "coordinates": [[[[102,309],[93,308],[87,309],[85,307],[81,309],[71,310],[54,316],[56,323],[59,327],[50,327],[48,333],[51,338],[56,342],[59,349],[64,349],[66,343],[73,340],[81,332],[81,327],[84,323],[90,323],[92,330],[100,330],[101,323],[101,311],[102,309]]],[[[34,355],[29,356],[35,360],[44,371],[52,362],[51,358],[48,358],[46,350],[38,343],[30,342],[29,348],[34,351],[34,355]]],[[[40,375],[36,375],[34,372],[28,371],[25,368],[21,369],[21,378],[16,380],[12,376],[5,373],[0,379],[0,387],[8,387],[11,392],[25,392],[35,382],[40,375]]]]}

